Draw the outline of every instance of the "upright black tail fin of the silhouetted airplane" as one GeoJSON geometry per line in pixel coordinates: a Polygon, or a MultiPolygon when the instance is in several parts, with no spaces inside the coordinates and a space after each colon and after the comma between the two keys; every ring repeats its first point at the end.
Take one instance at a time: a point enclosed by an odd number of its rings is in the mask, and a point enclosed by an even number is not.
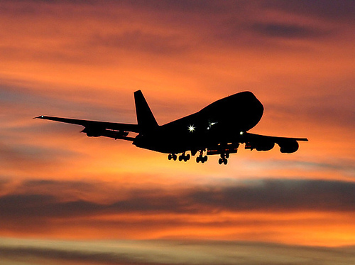
{"type": "Polygon", "coordinates": [[[136,115],[138,126],[142,131],[149,131],[158,127],[153,112],[148,106],[141,90],[134,92],[134,102],[136,103],[136,115]]]}

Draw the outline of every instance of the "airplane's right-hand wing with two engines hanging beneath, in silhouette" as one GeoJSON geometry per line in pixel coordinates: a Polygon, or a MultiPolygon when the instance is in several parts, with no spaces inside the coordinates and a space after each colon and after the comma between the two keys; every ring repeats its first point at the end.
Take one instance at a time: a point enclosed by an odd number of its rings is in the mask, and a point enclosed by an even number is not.
{"type": "Polygon", "coordinates": [[[246,144],[246,149],[256,149],[257,151],[268,151],[278,144],[281,153],[293,153],[298,150],[298,141],[308,141],[307,138],[290,138],[278,136],[266,136],[260,134],[245,133],[241,137],[246,144]]]}

